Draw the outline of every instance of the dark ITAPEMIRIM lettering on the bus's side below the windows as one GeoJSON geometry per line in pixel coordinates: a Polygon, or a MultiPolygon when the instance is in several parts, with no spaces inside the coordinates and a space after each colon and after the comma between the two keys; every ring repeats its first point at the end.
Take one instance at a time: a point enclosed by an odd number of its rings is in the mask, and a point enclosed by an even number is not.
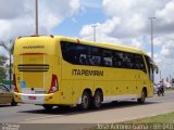
{"type": "Polygon", "coordinates": [[[74,76],[103,76],[103,70],[72,69],[74,76]]]}

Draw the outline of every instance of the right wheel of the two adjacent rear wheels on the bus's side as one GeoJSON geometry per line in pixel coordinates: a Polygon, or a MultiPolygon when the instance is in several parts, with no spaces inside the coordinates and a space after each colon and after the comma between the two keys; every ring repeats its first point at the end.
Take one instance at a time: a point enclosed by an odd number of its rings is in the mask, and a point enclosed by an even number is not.
{"type": "Polygon", "coordinates": [[[101,102],[102,102],[102,93],[100,91],[95,92],[92,105],[95,108],[100,108],[101,107],[101,102]]]}

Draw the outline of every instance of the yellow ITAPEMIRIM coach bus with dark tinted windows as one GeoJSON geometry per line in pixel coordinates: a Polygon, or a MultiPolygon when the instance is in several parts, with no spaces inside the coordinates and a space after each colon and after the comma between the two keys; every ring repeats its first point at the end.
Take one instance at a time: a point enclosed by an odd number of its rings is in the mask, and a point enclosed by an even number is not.
{"type": "Polygon", "coordinates": [[[153,95],[154,63],[141,50],[63,36],[18,37],[14,93],[18,103],[100,108],[103,102],[153,95]]]}

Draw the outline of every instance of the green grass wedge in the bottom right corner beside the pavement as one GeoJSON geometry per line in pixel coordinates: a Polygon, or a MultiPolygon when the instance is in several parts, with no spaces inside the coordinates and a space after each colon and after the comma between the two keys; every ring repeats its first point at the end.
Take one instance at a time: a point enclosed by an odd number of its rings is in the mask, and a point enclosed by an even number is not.
{"type": "MultiPolygon", "coordinates": [[[[157,116],[152,116],[152,117],[146,117],[146,118],[140,118],[140,119],[134,119],[134,120],[128,120],[128,121],[123,121],[123,122],[116,122],[116,123],[103,123],[88,129],[88,130],[113,130],[116,129],[116,127],[113,126],[120,126],[119,130],[125,130],[125,126],[132,126],[132,129],[137,129],[137,126],[139,127],[139,130],[144,130],[144,129],[163,129],[163,127],[165,127],[165,129],[170,129],[173,130],[174,129],[174,112],[172,113],[167,113],[167,114],[162,114],[162,115],[157,115],[157,116]],[[146,127],[146,125],[148,126],[148,128],[146,127]],[[161,126],[159,126],[161,125],[161,126]],[[163,126],[164,125],[164,126],[163,126]],[[170,126],[171,125],[171,126],[170,126]],[[136,127],[135,127],[136,126],[136,127]]],[[[130,129],[130,130],[132,130],[130,129]]]]}

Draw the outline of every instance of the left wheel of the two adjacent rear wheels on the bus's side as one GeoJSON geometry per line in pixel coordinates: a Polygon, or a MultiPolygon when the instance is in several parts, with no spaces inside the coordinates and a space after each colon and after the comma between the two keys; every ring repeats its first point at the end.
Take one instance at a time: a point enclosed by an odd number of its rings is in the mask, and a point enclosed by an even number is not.
{"type": "Polygon", "coordinates": [[[82,96],[82,104],[79,105],[80,109],[88,109],[90,105],[90,95],[87,91],[84,91],[82,96]]]}

